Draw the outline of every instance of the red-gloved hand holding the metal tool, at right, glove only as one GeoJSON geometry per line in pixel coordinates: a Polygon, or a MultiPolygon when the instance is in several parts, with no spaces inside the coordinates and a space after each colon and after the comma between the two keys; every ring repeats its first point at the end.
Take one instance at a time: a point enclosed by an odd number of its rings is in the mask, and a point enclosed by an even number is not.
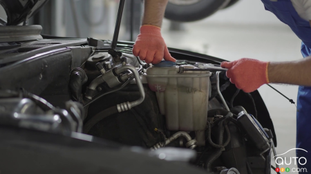
{"type": "Polygon", "coordinates": [[[233,62],[223,62],[221,67],[227,68],[227,77],[238,89],[249,93],[263,84],[269,83],[267,66],[269,62],[252,58],[241,58],[233,62]]]}

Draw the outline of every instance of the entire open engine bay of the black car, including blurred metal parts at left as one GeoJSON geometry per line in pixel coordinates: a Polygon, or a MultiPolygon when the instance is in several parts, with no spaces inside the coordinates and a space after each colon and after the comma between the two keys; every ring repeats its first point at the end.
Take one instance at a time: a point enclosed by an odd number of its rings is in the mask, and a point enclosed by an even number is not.
{"type": "Polygon", "coordinates": [[[192,149],[190,164],[208,173],[270,173],[273,127],[263,129],[252,95],[230,85],[219,64],[175,56],[176,63],[151,65],[133,56],[131,45],[98,49],[91,41],[90,55],[70,68],[66,83],[55,78],[38,96],[1,91],[8,108],[1,123],[149,151],[192,149]],[[57,95],[64,86],[70,100],[57,95]]]}

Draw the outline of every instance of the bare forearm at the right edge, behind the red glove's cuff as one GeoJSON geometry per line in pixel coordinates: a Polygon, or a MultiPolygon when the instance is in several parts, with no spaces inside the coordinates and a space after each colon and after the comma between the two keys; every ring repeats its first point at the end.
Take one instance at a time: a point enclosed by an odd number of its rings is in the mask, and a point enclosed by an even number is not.
{"type": "Polygon", "coordinates": [[[269,83],[311,86],[311,56],[299,61],[271,62],[268,77],[269,83]]]}

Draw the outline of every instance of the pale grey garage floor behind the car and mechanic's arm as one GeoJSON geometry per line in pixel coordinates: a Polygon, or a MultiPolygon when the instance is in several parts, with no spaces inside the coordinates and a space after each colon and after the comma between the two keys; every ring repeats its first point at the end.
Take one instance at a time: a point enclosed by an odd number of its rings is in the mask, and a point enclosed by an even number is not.
{"type": "MultiPolygon", "coordinates": [[[[185,31],[169,31],[164,21],[162,34],[169,47],[209,54],[228,61],[238,58],[256,58],[261,61],[291,61],[302,58],[301,41],[288,27],[280,25],[234,25],[195,22],[184,25],[185,31]]],[[[296,102],[297,86],[273,85],[296,102]]],[[[259,92],[274,122],[278,154],[295,147],[296,107],[267,85],[259,92]]],[[[294,151],[286,156],[294,157],[294,151]]],[[[274,161],[274,160],[273,160],[274,161]]],[[[284,167],[295,167],[284,166],[284,167]]]]}

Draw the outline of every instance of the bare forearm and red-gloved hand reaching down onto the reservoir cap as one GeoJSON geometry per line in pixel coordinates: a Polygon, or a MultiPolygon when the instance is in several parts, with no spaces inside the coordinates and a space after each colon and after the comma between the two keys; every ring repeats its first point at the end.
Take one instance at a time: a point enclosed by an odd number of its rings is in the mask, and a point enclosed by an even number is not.
{"type": "Polygon", "coordinates": [[[175,62],[161,36],[161,25],[168,0],[145,0],[140,34],[133,46],[133,54],[146,63],[159,63],[164,58],[175,62]]]}

